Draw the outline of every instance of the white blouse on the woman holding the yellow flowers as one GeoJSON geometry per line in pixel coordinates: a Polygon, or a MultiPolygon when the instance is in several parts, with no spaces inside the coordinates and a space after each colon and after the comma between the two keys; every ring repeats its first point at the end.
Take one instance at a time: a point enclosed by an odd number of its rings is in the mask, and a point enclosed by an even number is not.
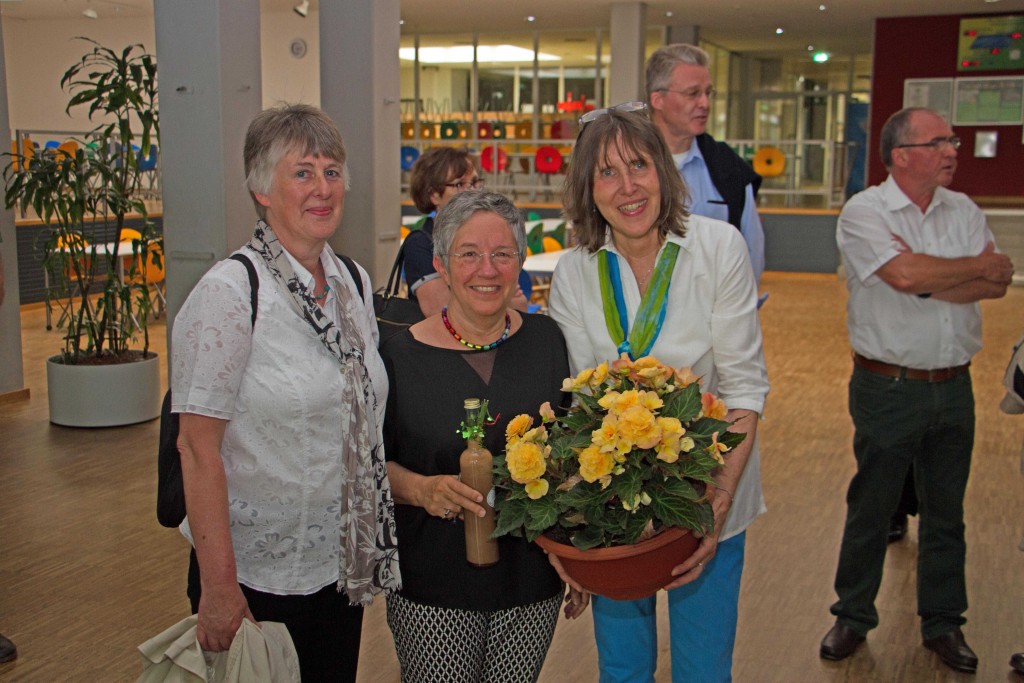
{"type": "MultiPolygon", "coordinates": [[[[768,376],[754,271],[742,238],[729,223],[691,215],[686,220],[686,237],[670,234],[667,240],[677,243],[680,250],[665,323],[650,354],[674,368],[692,368],[703,378],[703,389],[718,394],[729,409],[762,413],[768,376]]],[[[620,259],[632,329],[640,307],[640,288],[610,241],[602,249],[620,259]]],[[[596,254],[577,248],[558,261],[549,310],[565,336],[573,374],[618,357],[604,323],[596,254]]],[[[723,541],[745,529],[765,511],[756,440],[733,496],[723,541]]]]}

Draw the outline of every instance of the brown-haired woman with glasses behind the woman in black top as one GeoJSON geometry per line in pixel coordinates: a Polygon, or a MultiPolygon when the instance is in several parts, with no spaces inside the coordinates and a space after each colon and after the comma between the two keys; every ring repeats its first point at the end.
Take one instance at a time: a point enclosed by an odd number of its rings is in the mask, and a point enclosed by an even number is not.
{"type": "MultiPolygon", "coordinates": [[[[434,215],[444,208],[459,193],[483,187],[476,165],[476,158],[467,150],[457,147],[431,147],[423,153],[413,166],[409,194],[416,208],[427,219],[408,238],[406,250],[406,282],[412,299],[420,304],[424,316],[434,315],[447,303],[447,287],[434,268],[434,215]]],[[[512,299],[512,307],[525,311],[530,289],[529,275],[522,273],[519,291],[512,299]]]]}

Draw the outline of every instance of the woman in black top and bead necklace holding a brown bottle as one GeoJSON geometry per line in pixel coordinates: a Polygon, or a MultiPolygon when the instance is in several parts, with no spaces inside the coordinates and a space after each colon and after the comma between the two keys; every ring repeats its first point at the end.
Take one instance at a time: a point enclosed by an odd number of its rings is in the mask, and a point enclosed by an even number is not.
{"type": "MultiPolygon", "coordinates": [[[[510,307],[525,244],[522,215],[508,199],[458,195],[434,230],[433,264],[451,290],[447,305],[381,349],[402,573],[387,618],[402,681],[532,681],[554,635],[565,589],[540,547],[503,537],[496,564],[471,566],[462,521],[483,514],[482,496],[459,479],[464,399],[489,401],[497,422],[484,429],[483,445],[494,454],[504,450],[513,416],[568,400],[558,326],[510,307]]],[[[586,606],[574,597],[565,608],[570,617],[586,606]]]]}

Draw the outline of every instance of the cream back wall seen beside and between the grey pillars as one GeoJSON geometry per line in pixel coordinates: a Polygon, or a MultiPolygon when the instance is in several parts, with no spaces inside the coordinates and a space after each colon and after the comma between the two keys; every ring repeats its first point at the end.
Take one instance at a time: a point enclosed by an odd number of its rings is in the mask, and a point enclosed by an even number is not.
{"type": "MultiPolygon", "coordinates": [[[[65,114],[69,94],[60,77],[90,46],[76,36],[87,36],[105,47],[121,50],[141,43],[156,54],[153,18],[100,18],[3,22],[4,57],[11,135],[17,129],[85,132],[95,127],[86,108],[65,114]]],[[[281,101],[319,104],[319,37],[315,13],[302,18],[295,12],[267,12],[261,17],[263,105],[281,101]],[[292,56],[292,40],[306,42],[306,55],[292,56]]],[[[161,83],[162,88],[172,87],[161,83]]],[[[248,123],[248,122],[246,122],[248,123]]],[[[240,123],[240,125],[245,125],[240,123]]],[[[42,142],[42,140],[37,140],[42,142]]]]}

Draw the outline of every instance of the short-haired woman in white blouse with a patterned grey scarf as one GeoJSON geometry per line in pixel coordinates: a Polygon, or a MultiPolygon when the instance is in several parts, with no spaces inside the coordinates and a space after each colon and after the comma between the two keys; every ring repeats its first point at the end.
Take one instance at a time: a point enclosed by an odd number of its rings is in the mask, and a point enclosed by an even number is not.
{"type": "Polygon", "coordinates": [[[276,108],[249,126],[245,170],[252,238],[174,323],[188,597],[204,650],[281,622],[303,680],[354,681],[362,606],[400,578],[370,280],[328,245],[345,145],[319,110],[276,108]]]}

